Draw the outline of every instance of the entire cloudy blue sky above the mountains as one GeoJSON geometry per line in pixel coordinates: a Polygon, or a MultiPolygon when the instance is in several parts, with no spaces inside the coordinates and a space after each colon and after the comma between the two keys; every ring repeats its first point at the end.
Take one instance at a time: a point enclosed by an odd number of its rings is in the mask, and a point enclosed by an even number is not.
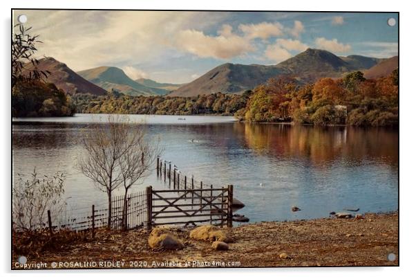
{"type": "Polygon", "coordinates": [[[307,48],[391,57],[396,13],[15,10],[39,35],[39,57],[74,71],[117,66],[130,78],[185,83],[214,67],[278,64],[307,48]]]}

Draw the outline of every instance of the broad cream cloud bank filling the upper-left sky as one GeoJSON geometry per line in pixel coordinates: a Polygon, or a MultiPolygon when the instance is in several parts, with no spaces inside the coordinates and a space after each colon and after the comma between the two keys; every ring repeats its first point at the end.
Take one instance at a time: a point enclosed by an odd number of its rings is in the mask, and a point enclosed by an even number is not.
{"type": "Polygon", "coordinates": [[[168,11],[21,10],[44,44],[39,56],[65,62],[74,71],[96,66],[134,65],[164,59],[175,35],[205,29],[228,14],[168,11]]]}

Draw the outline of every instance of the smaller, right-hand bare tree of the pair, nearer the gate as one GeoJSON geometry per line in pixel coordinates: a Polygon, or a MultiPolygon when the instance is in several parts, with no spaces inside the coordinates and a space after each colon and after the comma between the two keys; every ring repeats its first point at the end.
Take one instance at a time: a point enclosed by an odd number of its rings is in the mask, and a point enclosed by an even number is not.
{"type": "Polygon", "coordinates": [[[120,170],[122,172],[124,186],[124,202],[122,226],[127,229],[127,194],[129,189],[135,184],[140,183],[143,179],[151,174],[154,168],[154,162],[160,153],[159,140],[150,143],[146,140],[146,129],[143,125],[140,127],[131,127],[129,132],[129,150],[127,150],[119,160],[120,170]]]}

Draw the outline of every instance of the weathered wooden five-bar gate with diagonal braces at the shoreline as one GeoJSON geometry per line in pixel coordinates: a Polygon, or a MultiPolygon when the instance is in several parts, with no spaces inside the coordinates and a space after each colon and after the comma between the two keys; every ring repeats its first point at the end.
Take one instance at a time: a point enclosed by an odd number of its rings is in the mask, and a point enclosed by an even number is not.
{"type": "Polygon", "coordinates": [[[207,223],[232,226],[233,186],[153,190],[146,188],[147,226],[207,223]]]}

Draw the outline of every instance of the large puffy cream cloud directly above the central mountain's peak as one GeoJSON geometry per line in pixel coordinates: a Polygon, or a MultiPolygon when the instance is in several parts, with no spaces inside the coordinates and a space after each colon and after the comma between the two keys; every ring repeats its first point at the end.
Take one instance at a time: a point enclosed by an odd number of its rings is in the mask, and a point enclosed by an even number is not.
{"type": "MultiPolygon", "coordinates": [[[[230,26],[231,27],[231,26],[230,26]]],[[[229,59],[254,51],[254,46],[245,37],[231,33],[226,27],[220,33],[225,35],[209,36],[198,30],[182,30],[176,35],[174,46],[199,57],[229,59]]]]}

